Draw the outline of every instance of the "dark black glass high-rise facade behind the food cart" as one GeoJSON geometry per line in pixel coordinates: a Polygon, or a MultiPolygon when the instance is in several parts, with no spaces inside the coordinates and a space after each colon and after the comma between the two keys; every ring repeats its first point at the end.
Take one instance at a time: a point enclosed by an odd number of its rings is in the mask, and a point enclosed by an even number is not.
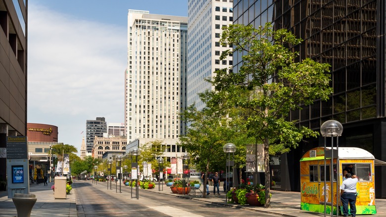
{"type": "MultiPolygon", "coordinates": [[[[271,22],[275,29],[286,28],[303,39],[291,48],[299,52],[297,60],[310,57],[331,65],[330,100],[292,111],[290,120],[313,130],[338,120],[343,124],[339,147],[362,148],[386,161],[384,0],[235,0],[233,17],[235,24],[271,22]]],[[[241,54],[234,54],[233,63],[237,72],[241,54]]],[[[320,137],[282,156],[282,190],[300,191],[299,160],[323,145],[320,137]]],[[[376,166],[375,176],[376,197],[386,198],[385,166],[376,166]]]]}

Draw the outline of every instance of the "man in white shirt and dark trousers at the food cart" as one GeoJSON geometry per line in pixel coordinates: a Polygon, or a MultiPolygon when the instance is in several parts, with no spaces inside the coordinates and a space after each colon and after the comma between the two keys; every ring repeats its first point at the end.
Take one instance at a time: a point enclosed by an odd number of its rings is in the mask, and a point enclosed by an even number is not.
{"type": "Polygon", "coordinates": [[[340,201],[342,202],[343,207],[343,216],[348,217],[348,204],[350,204],[350,213],[352,217],[356,216],[356,183],[358,182],[358,177],[350,173],[346,173],[346,179],[342,182],[340,186],[340,201]]]}

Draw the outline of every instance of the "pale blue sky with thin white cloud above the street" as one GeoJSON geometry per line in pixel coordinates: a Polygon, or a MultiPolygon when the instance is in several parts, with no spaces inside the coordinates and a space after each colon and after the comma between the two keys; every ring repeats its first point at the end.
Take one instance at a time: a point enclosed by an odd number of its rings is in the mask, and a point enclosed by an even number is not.
{"type": "Polygon", "coordinates": [[[129,9],[188,16],[188,0],[28,1],[27,122],[78,155],[86,120],[124,123],[129,9]]]}

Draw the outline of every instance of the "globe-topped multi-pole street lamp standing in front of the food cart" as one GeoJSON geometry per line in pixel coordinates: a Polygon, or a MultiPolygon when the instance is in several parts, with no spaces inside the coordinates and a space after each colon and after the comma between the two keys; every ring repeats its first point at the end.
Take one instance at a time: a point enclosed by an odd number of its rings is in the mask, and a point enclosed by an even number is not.
{"type": "Polygon", "coordinates": [[[331,159],[330,159],[330,179],[331,179],[331,217],[334,216],[334,137],[337,137],[337,217],[339,216],[339,146],[338,146],[338,137],[342,135],[343,126],[337,120],[328,120],[320,126],[320,133],[324,137],[324,216],[326,216],[326,203],[327,203],[327,195],[326,195],[326,137],[331,137],[331,159]]]}

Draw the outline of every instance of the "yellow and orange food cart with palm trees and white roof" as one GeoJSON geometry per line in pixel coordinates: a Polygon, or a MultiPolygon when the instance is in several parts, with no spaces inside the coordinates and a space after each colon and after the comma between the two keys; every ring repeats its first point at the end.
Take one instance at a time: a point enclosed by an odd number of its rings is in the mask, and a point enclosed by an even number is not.
{"type": "MultiPolygon", "coordinates": [[[[325,150],[324,147],[317,147],[311,149],[300,159],[300,209],[324,213],[326,206],[327,214],[330,214],[331,211],[333,211],[334,215],[336,215],[337,207],[341,205],[339,186],[343,181],[343,170],[348,165],[353,165],[353,172],[358,176],[356,214],[377,214],[374,182],[374,166],[376,164],[384,165],[386,163],[376,160],[371,153],[360,148],[339,147],[337,149],[334,147],[334,150],[331,150],[331,147],[327,147],[325,150]],[[333,156],[334,173],[332,181],[330,175],[331,156],[333,156]],[[324,174],[325,170],[326,175],[324,174]],[[331,183],[333,183],[332,186],[331,183]],[[324,190],[325,187],[326,191],[324,190]]],[[[339,207],[339,210],[339,214],[341,214],[341,206],[339,207]]]]}

